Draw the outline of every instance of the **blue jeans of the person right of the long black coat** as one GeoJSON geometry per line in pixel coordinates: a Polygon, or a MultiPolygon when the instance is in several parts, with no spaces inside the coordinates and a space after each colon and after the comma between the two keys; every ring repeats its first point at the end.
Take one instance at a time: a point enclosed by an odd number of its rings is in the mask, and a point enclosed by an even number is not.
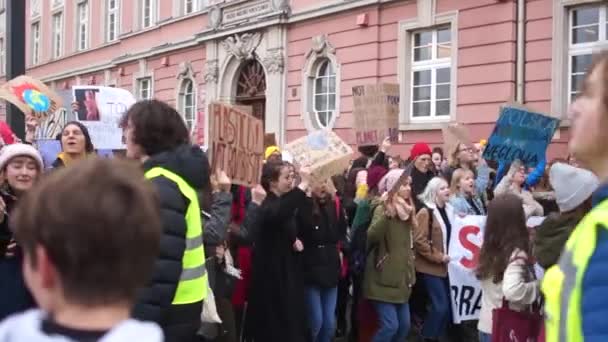
{"type": "Polygon", "coordinates": [[[338,288],[308,286],[308,323],[313,342],[331,342],[336,329],[336,302],[338,288]]]}

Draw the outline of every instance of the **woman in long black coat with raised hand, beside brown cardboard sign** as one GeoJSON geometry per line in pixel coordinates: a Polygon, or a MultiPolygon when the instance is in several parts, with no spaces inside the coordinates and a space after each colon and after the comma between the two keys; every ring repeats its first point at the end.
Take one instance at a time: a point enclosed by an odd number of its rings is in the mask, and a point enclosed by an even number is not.
{"type": "Polygon", "coordinates": [[[293,174],[283,162],[264,165],[267,197],[255,229],[251,289],[245,339],[253,342],[307,342],[304,286],[299,264],[296,210],[306,199],[310,173],[293,188],[293,174]]]}

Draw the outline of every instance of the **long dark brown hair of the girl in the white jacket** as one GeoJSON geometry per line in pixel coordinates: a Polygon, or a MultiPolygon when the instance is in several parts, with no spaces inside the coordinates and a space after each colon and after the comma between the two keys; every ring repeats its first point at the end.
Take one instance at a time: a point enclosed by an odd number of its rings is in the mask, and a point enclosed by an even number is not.
{"type": "Polygon", "coordinates": [[[495,284],[500,283],[515,249],[530,255],[530,237],[523,202],[513,194],[500,195],[488,205],[477,278],[491,278],[495,284]]]}

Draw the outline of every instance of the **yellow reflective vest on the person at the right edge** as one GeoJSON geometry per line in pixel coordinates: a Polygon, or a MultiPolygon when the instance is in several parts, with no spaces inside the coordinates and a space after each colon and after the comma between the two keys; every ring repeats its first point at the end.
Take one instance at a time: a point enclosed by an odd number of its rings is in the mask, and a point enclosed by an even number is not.
{"type": "Polygon", "coordinates": [[[608,229],[608,200],[597,205],[570,235],[557,265],[543,278],[546,342],[583,342],[582,285],[595,252],[598,227],[608,229]]]}

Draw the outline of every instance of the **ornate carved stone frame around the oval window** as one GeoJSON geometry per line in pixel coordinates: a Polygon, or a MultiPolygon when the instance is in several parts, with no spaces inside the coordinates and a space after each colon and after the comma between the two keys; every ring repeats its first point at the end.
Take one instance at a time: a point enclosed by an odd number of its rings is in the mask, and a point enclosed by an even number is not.
{"type": "Polygon", "coordinates": [[[336,56],[336,49],[329,42],[327,35],[320,35],[312,38],[312,47],[306,53],[306,60],[302,68],[302,91],[301,91],[301,106],[304,125],[310,131],[327,128],[332,129],[340,116],[340,63],[336,56]],[[336,77],[336,102],[335,110],[331,120],[326,127],[322,127],[317,120],[316,113],[313,108],[314,82],[317,76],[319,67],[328,61],[335,72],[336,77]]]}

